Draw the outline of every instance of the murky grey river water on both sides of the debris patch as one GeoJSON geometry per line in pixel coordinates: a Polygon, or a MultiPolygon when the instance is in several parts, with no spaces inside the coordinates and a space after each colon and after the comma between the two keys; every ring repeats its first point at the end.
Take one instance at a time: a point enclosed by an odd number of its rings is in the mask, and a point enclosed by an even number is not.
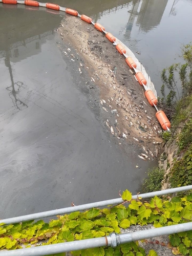
{"type": "MultiPolygon", "coordinates": [[[[160,71],[189,41],[190,1],[55,3],[93,17],[139,51],[157,91],[160,71]]],[[[0,20],[0,218],[139,191],[156,163],[138,160],[133,148],[127,154],[103,131],[57,47],[61,17],[0,4],[0,20]]]]}

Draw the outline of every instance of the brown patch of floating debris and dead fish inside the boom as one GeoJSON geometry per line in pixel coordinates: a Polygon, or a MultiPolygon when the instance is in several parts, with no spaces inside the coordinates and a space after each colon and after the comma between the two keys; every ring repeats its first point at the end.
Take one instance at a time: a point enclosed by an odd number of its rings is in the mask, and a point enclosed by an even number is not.
{"type": "Polygon", "coordinates": [[[90,79],[81,86],[93,96],[95,87],[99,90],[95,104],[106,131],[119,145],[138,146],[141,159],[156,158],[161,150],[162,129],[155,108],[145,98],[144,88],[135,80],[124,56],[104,33],[79,18],[64,19],[58,33],[67,44],[63,53],[76,62],[82,76],[89,73],[90,79]]]}

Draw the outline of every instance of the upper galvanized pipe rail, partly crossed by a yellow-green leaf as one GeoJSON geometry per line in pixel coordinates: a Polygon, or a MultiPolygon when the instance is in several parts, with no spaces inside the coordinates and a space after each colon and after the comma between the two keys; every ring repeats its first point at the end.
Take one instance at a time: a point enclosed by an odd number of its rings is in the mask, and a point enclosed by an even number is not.
{"type": "MultiPolygon", "coordinates": [[[[138,197],[142,197],[143,199],[145,199],[145,198],[151,198],[151,197],[155,197],[155,196],[163,196],[163,195],[174,194],[174,193],[178,193],[178,192],[186,191],[186,190],[190,190],[190,189],[192,189],[192,185],[170,188],[170,189],[155,191],[155,192],[146,193],[146,194],[139,194],[139,195],[132,196],[132,199],[137,199],[138,197]]],[[[102,206],[106,206],[106,205],[120,204],[123,202],[124,201],[122,200],[122,198],[116,198],[116,199],[111,199],[111,200],[95,202],[95,203],[82,204],[82,205],[73,206],[73,207],[43,211],[43,212],[38,212],[36,214],[29,214],[29,215],[24,215],[24,216],[19,216],[19,217],[13,217],[13,218],[9,218],[9,219],[3,219],[3,220],[0,220],[0,223],[5,223],[5,224],[12,223],[13,224],[13,223],[18,223],[18,222],[52,217],[52,216],[56,216],[56,215],[69,214],[70,212],[74,212],[74,211],[87,210],[87,209],[102,207],[102,206]]]]}

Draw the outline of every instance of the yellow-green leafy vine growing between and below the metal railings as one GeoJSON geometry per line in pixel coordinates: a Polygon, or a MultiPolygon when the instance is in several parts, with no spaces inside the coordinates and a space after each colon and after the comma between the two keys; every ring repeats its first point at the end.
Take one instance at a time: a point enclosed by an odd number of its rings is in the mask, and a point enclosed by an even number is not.
{"type": "MultiPolygon", "coordinates": [[[[162,200],[157,196],[146,202],[142,198],[134,200],[130,191],[122,193],[124,203],[105,209],[92,208],[83,212],[72,212],[69,215],[57,216],[56,220],[45,223],[28,221],[17,224],[0,224],[0,249],[19,249],[23,247],[70,242],[108,236],[112,232],[119,233],[121,228],[131,225],[153,224],[155,227],[186,223],[192,218],[192,194],[183,198],[173,197],[162,200]]],[[[181,232],[169,236],[169,243],[158,242],[167,246],[174,254],[192,255],[192,231],[181,232]]],[[[145,240],[141,241],[146,243],[145,240]]],[[[93,248],[71,252],[81,256],[144,256],[144,249],[138,242],[122,244],[116,248],[93,248]]],[[[56,255],[65,255],[60,253],[56,255]]],[[[150,250],[147,256],[157,256],[150,250]]],[[[160,256],[160,255],[159,255],[160,256]]]]}

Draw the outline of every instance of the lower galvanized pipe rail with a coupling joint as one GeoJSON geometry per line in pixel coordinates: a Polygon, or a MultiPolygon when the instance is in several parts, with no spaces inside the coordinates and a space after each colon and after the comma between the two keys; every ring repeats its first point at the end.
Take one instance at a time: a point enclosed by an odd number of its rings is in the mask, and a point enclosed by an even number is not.
{"type": "Polygon", "coordinates": [[[67,243],[59,243],[52,245],[44,245],[38,247],[31,247],[25,249],[17,249],[10,251],[0,252],[0,256],[42,256],[50,255],[53,253],[67,252],[82,250],[88,248],[96,248],[101,246],[116,247],[119,244],[125,244],[132,241],[139,241],[142,239],[153,238],[163,236],[165,234],[173,234],[183,231],[189,231],[192,229],[192,222],[166,226],[154,229],[141,230],[131,233],[111,233],[110,236],[101,238],[85,239],[80,241],[73,241],[67,243]]]}

